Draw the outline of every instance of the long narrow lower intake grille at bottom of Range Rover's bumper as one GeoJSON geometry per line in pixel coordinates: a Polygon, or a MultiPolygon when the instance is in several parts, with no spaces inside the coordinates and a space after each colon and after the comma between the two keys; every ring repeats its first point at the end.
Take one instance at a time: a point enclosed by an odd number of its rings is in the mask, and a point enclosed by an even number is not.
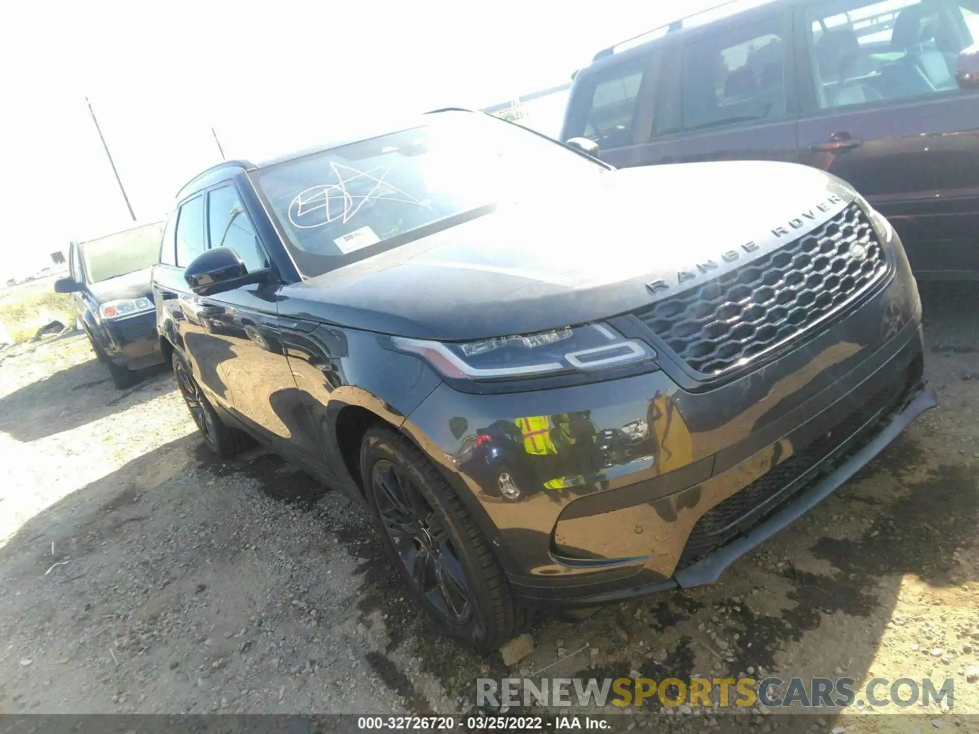
{"type": "Polygon", "coordinates": [[[882,420],[904,404],[910,391],[919,384],[920,376],[920,363],[915,362],[909,368],[906,385],[891,385],[880,390],[827,434],[819,436],[767,474],[708,510],[690,532],[676,565],[677,570],[696,563],[771,517],[820,475],[816,474],[805,482],[797,480],[804,478],[816,464],[837,449],[844,448],[840,456],[833,457],[834,462],[859,449],[881,427],[882,420]]]}

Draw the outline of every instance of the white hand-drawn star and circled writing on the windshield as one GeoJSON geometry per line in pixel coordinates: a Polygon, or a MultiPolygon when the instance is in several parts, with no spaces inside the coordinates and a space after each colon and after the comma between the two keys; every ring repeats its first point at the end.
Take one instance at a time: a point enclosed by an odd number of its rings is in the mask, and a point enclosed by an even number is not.
{"type": "Polygon", "coordinates": [[[307,189],[303,189],[290,202],[289,221],[294,227],[298,229],[315,229],[316,227],[332,224],[335,221],[342,221],[346,224],[360,210],[360,207],[369,201],[398,202],[400,204],[431,208],[425,202],[415,199],[415,197],[401,191],[394,184],[388,183],[385,180],[391,170],[390,163],[388,165],[379,165],[367,171],[360,171],[336,161],[330,161],[330,167],[337,176],[337,183],[310,186],[307,189]],[[382,172],[380,175],[376,175],[377,171],[382,172]],[[366,194],[350,194],[347,190],[347,185],[358,178],[373,181],[374,186],[366,194]],[[335,209],[342,204],[343,210],[331,211],[331,204],[335,205],[335,209]],[[322,218],[309,216],[310,213],[319,209],[325,210],[322,218]]]}

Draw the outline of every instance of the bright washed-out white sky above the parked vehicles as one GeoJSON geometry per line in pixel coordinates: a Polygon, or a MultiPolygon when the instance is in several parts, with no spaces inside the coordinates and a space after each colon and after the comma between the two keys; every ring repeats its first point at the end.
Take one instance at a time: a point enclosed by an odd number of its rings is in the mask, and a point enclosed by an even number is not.
{"type": "MultiPolygon", "coordinates": [[[[23,3],[5,7],[0,281],[140,220],[226,156],[302,148],[378,115],[486,107],[712,0],[23,3]]],[[[355,127],[354,127],[355,129],[355,127]]]]}

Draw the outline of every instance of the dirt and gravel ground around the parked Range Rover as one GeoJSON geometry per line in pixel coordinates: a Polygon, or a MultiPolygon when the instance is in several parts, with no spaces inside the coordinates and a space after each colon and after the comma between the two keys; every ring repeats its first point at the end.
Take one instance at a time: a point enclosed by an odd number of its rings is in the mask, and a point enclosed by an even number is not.
{"type": "MultiPolygon", "coordinates": [[[[939,409],[719,583],[540,619],[509,672],[422,617],[344,496],[258,451],[214,460],[167,373],[117,392],[83,338],[0,351],[0,712],[463,712],[476,677],[546,668],[953,678],[909,731],[979,728],[979,288],[922,292],[939,409]]],[[[720,727],[779,728],[762,714],[720,727]]],[[[667,721],[719,726],[629,718],[667,721]]]]}

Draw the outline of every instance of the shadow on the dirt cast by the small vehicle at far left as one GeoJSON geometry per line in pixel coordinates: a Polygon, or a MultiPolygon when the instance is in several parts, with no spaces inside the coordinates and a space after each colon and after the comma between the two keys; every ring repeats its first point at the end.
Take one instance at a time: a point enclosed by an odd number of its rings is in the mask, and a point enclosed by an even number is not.
{"type": "Polygon", "coordinates": [[[115,390],[108,370],[93,356],[0,397],[0,431],[30,443],[76,429],[116,413],[123,401],[138,405],[157,397],[159,391],[146,388],[165,380],[166,372],[163,365],[142,370],[143,382],[115,390]]]}

